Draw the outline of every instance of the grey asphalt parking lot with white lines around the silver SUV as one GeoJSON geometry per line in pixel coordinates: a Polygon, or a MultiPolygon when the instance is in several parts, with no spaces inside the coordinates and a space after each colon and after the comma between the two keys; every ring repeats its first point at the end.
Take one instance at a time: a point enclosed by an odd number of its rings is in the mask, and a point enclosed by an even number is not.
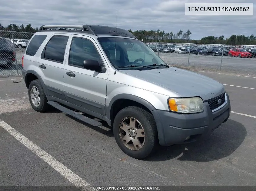
{"type": "MultiPolygon", "coordinates": [[[[171,65],[187,56],[168,54],[171,65]]],[[[201,67],[201,56],[190,56],[201,67]]],[[[207,63],[215,67],[216,59],[207,63]]],[[[227,56],[222,67],[255,70],[254,60],[227,56]]],[[[22,77],[0,78],[1,185],[256,185],[256,77],[197,73],[224,84],[230,118],[199,142],[161,147],[145,160],[125,155],[105,123],[88,126],[56,109],[37,113],[22,77]]]]}

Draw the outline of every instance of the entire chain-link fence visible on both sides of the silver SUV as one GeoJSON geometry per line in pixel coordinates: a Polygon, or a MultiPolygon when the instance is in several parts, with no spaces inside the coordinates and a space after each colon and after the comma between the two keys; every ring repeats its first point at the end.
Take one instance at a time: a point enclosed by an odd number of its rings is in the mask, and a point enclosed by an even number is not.
{"type": "MultiPolygon", "coordinates": [[[[33,34],[0,31],[0,76],[21,75],[22,56],[33,34]]],[[[256,74],[256,46],[144,43],[171,66],[190,70],[256,74]],[[237,49],[231,51],[234,48],[237,49]]]]}

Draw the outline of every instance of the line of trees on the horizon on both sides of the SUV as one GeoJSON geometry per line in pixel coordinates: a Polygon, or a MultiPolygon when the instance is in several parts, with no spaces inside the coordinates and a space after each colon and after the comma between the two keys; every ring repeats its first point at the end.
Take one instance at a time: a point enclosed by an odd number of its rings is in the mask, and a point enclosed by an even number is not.
{"type": "MultiPolygon", "coordinates": [[[[6,31],[19,31],[19,32],[30,32],[35,33],[38,31],[38,27],[33,28],[31,24],[24,24],[18,26],[16,24],[8,24],[4,27],[0,24],[0,30],[6,31]]],[[[129,29],[135,37],[144,42],[162,42],[162,43],[201,43],[201,44],[232,44],[232,45],[256,45],[256,36],[251,34],[250,36],[244,35],[231,35],[229,38],[224,39],[224,36],[214,37],[208,36],[203,37],[201,40],[191,39],[191,31],[188,29],[186,32],[179,30],[175,32],[165,32],[164,30],[135,30],[129,29]]]]}

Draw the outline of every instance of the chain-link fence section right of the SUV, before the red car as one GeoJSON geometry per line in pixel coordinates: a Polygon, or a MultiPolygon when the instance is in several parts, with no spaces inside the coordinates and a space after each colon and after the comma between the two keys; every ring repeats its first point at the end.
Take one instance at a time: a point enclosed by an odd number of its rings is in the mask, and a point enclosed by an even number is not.
{"type": "Polygon", "coordinates": [[[256,46],[253,45],[144,43],[171,66],[190,70],[256,74],[256,46]]]}

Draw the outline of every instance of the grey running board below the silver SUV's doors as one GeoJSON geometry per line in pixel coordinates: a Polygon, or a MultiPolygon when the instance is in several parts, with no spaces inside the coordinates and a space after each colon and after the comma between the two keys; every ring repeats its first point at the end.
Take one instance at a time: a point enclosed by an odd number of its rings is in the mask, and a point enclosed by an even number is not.
{"type": "Polygon", "coordinates": [[[94,120],[94,119],[91,119],[89,117],[86,117],[84,115],[82,115],[81,113],[78,113],[78,112],[75,112],[75,111],[72,111],[62,105],[60,105],[58,102],[55,102],[55,101],[48,101],[47,102],[49,105],[51,105],[52,107],[55,107],[56,109],[64,112],[64,113],[67,113],[68,115],[72,116],[72,117],[75,117],[85,123],[88,123],[92,126],[101,126],[102,123],[94,120]]]}

